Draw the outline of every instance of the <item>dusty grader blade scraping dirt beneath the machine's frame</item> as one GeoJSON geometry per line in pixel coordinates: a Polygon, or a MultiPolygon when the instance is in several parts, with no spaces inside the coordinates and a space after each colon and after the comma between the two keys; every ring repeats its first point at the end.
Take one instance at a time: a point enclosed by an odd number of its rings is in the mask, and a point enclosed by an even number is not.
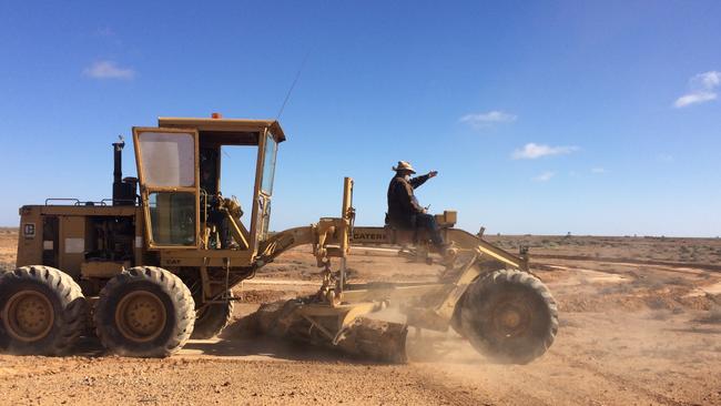
{"type": "Polygon", "coordinates": [[[255,322],[262,334],[337,349],[363,359],[405,363],[407,325],[359,316],[369,311],[372,304],[331,307],[293,300],[262,305],[255,322]]]}

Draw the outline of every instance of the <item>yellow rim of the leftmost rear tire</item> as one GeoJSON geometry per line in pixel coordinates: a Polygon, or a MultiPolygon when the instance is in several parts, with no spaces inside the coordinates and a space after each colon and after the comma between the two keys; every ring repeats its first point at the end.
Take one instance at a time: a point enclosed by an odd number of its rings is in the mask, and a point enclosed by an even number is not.
{"type": "Polygon", "coordinates": [[[38,291],[21,291],[10,297],[2,312],[2,324],[16,339],[26,343],[44,338],[55,321],[50,298],[38,291]]]}

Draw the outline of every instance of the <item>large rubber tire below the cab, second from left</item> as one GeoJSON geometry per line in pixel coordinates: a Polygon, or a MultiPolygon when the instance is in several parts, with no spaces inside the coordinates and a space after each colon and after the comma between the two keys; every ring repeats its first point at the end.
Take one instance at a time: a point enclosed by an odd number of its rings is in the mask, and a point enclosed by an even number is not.
{"type": "Polygon", "coordinates": [[[119,355],[166,357],[179,352],[193,333],[194,308],[180,277],[160,267],[136,266],[110,280],[100,292],[95,331],[103,346],[119,355]],[[150,313],[133,318],[133,312],[148,307],[150,313]],[[134,323],[151,325],[145,329],[134,323]]]}

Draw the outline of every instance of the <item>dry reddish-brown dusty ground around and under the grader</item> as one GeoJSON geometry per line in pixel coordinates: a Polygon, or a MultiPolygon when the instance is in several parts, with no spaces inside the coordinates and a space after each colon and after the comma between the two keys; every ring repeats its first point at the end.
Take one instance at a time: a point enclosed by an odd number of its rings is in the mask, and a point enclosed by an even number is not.
{"type": "MultiPolygon", "coordinates": [[[[0,229],[0,266],[13,262],[14,233],[0,229]]],[[[560,305],[556,343],[530,365],[491,364],[453,333],[409,338],[407,365],[366,364],[237,323],[170,359],[106,356],[93,339],[67,358],[0,355],[0,404],[721,405],[721,240],[489,240],[530,245],[560,305]]],[[[349,267],[358,281],[436,272],[387,257],[349,267]]],[[[316,282],[311,257],[287,253],[237,292],[236,318],[316,282]]]]}

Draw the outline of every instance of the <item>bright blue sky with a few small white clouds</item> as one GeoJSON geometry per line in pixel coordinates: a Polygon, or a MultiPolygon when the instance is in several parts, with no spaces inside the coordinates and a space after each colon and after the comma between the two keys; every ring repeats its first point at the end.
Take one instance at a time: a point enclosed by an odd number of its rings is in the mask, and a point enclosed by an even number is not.
{"type": "MultiPolygon", "coordinates": [[[[440,173],[420,202],[471,232],[715,236],[720,18],[718,1],[3,1],[0,225],[110,196],[132,125],[275,118],[307,55],[274,230],[336,215],[344,175],[357,223],[382,224],[407,160],[440,173]]],[[[226,158],[223,191],[246,200],[252,158],[226,158]]]]}

